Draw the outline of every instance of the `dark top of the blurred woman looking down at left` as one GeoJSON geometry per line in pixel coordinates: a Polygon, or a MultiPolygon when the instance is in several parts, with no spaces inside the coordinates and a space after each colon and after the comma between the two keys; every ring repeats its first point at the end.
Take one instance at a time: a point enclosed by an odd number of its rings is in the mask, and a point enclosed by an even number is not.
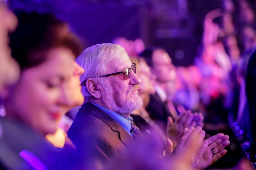
{"type": "Polygon", "coordinates": [[[0,164],[4,169],[69,169],[59,155],[61,150],[31,127],[4,117],[0,123],[0,164]]]}

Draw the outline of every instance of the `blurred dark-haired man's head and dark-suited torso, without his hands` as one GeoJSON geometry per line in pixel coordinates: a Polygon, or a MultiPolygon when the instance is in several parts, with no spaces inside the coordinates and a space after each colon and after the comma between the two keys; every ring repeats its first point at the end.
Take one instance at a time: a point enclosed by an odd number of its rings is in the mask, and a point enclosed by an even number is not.
{"type": "Polygon", "coordinates": [[[140,56],[144,57],[151,68],[151,72],[157,76],[156,93],[150,95],[150,102],[146,110],[154,120],[162,124],[164,129],[167,125],[167,117],[171,116],[175,119],[167,105],[167,94],[165,92],[165,86],[172,78],[174,66],[171,58],[163,49],[145,49],[140,56]]]}

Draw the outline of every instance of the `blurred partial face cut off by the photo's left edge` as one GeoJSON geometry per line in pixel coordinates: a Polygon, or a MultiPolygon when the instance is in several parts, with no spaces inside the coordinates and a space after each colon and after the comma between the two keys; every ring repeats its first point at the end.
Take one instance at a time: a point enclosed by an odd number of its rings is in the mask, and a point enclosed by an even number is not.
{"type": "Polygon", "coordinates": [[[15,30],[17,23],[15,15],[0,2],[0,94],[19,77],[19,66],[8,46],[8,33],[15,30]]]}

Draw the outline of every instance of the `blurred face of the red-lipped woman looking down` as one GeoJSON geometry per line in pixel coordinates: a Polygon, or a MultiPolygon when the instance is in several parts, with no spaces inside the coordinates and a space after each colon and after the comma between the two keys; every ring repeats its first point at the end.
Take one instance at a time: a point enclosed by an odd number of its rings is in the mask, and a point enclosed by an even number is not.
{"type": "MultiPolygon", "coordinates": [[[[22,71],[5,103],[7,113],[43,135],[54,133],[63,108],[75,103],[69,90],[72,87],[72,92],[80,95],[78,80],[83,73],[69,49],[54,48],[44,54],[46,61],[22,71]]],[[[77,98],[81,103],[81,95],[77,98]]]]}

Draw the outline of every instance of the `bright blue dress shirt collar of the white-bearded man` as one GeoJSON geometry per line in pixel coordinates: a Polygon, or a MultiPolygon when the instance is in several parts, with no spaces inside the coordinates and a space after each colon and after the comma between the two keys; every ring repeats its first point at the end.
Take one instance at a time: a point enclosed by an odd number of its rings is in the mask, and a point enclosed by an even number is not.
{"type": "Polygon", "coordinates": [[[120,124],[124,128],[124,130],[126,130],[133,137],[132,133],[130,132],[131,131],[131,123],[129,121],[129,119],[130,119],[129,117],[128,117],[128,119],[126,119],[122,115],[120,115],[114,111],[108,110],[105,107],[102,107],[95,103],[92,103],[92,104],[97,106],[98,108],[100,108],[102,111],[104,111],[110,117],[112,117],[115,121],[117,121],[117,123],[120,124]]]}

